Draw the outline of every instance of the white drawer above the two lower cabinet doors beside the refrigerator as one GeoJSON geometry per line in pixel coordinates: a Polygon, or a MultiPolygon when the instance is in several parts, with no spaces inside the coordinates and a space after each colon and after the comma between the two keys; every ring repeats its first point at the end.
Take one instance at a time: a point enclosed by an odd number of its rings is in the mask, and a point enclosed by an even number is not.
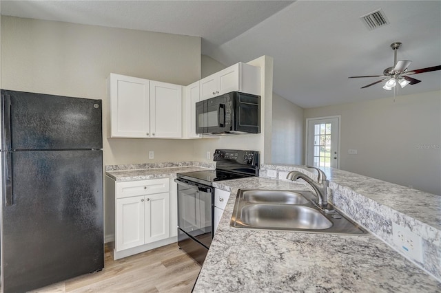
{"type": "Polygon", "coordinates": [[[116,198],[150,195],[153,193],[167,193],[170,189],[169,182],[170,180],[168,178],[117,182],[116,198]]]}

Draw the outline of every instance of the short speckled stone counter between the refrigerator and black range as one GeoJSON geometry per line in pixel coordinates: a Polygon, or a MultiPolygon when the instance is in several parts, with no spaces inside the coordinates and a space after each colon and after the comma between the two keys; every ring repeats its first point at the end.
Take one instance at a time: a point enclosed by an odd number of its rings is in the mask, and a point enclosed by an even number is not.
{"type": "Polygon", "coordinates": [[[176,173],[215,169],[215,164],[175,162],[105,166],[105,175],[117,182],[176,177],[176,173]]]}

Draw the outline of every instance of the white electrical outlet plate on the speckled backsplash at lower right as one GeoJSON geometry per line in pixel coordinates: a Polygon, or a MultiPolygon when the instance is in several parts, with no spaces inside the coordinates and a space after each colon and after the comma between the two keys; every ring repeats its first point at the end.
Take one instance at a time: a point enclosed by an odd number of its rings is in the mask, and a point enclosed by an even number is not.
{"type": "Polygon", "coordinates": [[[392,223],[393,243],[400,252],[414,261],[422,263],[422,239],[411,230],[392,223]]]}

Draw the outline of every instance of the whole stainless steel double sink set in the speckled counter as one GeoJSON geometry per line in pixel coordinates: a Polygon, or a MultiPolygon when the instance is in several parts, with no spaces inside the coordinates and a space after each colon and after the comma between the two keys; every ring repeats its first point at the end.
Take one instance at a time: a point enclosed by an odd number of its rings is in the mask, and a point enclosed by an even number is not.
{"type": "Polygon", "coordinates": [[[235,228],[367,234],[338,210],[324,210],[311,191],[239,189],[230,225],[235,228]]]}

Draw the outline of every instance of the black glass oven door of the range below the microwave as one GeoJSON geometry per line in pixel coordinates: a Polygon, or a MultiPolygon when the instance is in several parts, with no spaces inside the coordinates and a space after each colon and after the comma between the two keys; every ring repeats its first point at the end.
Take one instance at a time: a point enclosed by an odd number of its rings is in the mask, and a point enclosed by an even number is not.
{"type": "Polygon", "coordinates": [[[178,228],[209,248],[213,238],[213,188],[177,178],[178,228]]]}

